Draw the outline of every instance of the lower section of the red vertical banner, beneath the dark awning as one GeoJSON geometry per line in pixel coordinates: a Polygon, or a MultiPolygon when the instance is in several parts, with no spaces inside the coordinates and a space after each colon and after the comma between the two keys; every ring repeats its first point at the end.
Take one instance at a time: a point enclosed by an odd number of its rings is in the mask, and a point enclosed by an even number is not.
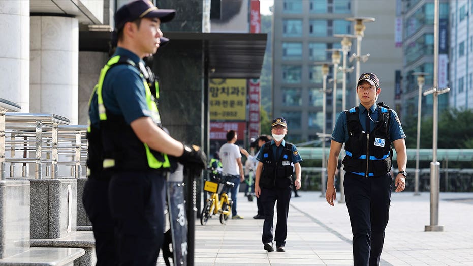
{"type": "Polygon", "coordinates": [[[260,80],[249,79],[248,81],[248,137],[256,138],[260,135],[260,80]]]}

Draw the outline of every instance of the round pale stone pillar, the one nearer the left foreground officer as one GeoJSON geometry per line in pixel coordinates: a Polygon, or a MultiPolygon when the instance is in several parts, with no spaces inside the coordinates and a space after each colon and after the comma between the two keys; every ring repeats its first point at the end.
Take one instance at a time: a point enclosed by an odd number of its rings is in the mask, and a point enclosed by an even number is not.
{"type": "Polygon", "coordinates": [[[30,31],[30,112],[57,114],[77,124],[77,19],[32,16],[30,31]]]}

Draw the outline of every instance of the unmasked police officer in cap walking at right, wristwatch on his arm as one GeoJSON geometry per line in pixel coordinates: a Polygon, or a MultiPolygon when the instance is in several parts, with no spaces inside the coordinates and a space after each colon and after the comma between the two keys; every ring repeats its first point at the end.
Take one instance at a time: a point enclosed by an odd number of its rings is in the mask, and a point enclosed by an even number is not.
{"type": "Polygon", "coordinates": [[[363,73],[356,92],[360,105],[340,113],[333,130],[325,197],[333,206],[334,175],[345,143],[343,186],[352,225],[353,264],[379,265],[393,190],[391,145],[397,154],[396,192],[401,192],[407,164],[405,134],[396,112],[382,102],[376,105],[381,88],[375,74],[363,73]]]}

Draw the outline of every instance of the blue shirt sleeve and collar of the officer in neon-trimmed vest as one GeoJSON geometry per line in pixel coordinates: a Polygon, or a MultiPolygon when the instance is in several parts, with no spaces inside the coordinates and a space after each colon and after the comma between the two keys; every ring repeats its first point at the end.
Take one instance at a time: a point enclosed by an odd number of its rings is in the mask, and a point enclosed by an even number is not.
{"type": "MultiPolygon", "coordinates": [[[[135,53],[118,47],[113,56],[126,56],[138,65],[144,62],[135,53]]],[[[112,57],[113,57],[112,56],[112,57]]],[[[127,124],[143,116],[150,116],[146,103],[143,79],[138,68],[129,64],[118,65],[107,71],[102,86],[105,109],[123,115],[127,124]]]]}

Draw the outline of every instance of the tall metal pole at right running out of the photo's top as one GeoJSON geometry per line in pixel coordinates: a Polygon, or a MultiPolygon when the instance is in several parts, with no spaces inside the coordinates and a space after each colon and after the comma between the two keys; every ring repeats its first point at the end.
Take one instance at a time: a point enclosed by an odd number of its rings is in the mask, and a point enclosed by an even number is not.
{"type": "Polygon", "coordinates": [[[438,134],[438,95],[447,93],[450,88],[438,90],[438,0],[434,4],[433,21],[433,87],[424,92],[424,96],[433,94],[433,132],[432,132],[432,162],[430,162],[430,225],[425,231],[441,232],[444,227],[438,225],[438,194],[440,190],[440,163],[437,162],[437,134],[438,134]]]}

